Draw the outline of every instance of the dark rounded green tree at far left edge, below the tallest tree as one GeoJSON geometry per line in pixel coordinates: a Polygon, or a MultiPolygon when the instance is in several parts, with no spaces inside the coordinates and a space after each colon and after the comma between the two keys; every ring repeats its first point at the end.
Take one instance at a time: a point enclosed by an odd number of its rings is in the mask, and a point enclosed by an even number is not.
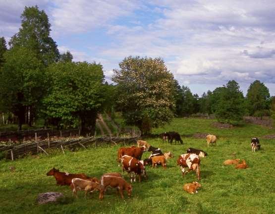
{"type": "MultiPolygon", "coordinates": [[[[24,47],[14,47],[4,54],[0,72],[0,106],[18,118],[18,130],[26,111],[35,114],[45,91],[44,65],[37,55],[24,47]]],[[[33,118],[33,117],[32,117],[33,118]]]]}

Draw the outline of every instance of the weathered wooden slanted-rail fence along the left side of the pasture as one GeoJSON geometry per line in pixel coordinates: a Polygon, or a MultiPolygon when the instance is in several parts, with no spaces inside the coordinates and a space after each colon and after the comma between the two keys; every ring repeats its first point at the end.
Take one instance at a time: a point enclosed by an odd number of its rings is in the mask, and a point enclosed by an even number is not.
{"type": "MultiPolygon", "coordinates": [[[[6,152],[6,158],[14,160],[19,157],[23,157],[27,154],[37,154],[39,152],[47,153],[49,148],[59,148],[62,149],[64,153],[64,148],[74,149],[76,147],[87,146],[100,146],[104,144],[112,143],[123,143],[129,144],[135,142],[139,136],[129,136],[129,137],[112,137],[112,136],[102,136],[102,137],[88,137],[88,138],[72,138],[69,140],[43,140],[31,143],[23,143],[19,145],[9,145],[0,147],[0,151],[6,152]]],[[[47,153],[48,154],[48,153],[47,153]]]]}

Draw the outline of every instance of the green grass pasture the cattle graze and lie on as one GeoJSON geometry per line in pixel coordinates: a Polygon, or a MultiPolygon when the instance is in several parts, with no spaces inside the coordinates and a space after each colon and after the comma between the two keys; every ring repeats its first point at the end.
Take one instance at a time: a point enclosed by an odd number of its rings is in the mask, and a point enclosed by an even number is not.
{"type": "MultiPolygon", "coordinates": [[[[119,145],[89,148],[71,152],[52,151],[49,156],[40,154],[16,161],[0,161],[0,213],[49,213],[49,214],[274,214],[275,213],[275,171],[274,139],[261,138],[274,134],[274,129],[245,124],[232,129],[213,128],[214,120],[175,119],[164,128],[154,130],[177,131],[182,135],[183,145],[162,143],[161,139],[146,139],[163,151],[171,151],[167,169],[147,167],[149,179],[133,184],[131,198],[122,200],[115,190],[108,190],[105,199],[98,199],[98,192],[85,200],[84,193],[78,192],[74,199],[67,186],[56,186],[53,176],[46,176],[52,168],[71,173],[84,172],[100,177],[106,172],[122,172],[117,166],[116,151],[119,145]],[[217,146],[207,148],[205,139],[195,139],[195,133],[211,133],[218,136],[217,146]],[[261,150],[253,153],[250,139],[259,137],[261,150]],[[196,181],[194,172],[184,178],[176,166],[178,155],[188,147],[208,152],[201,159],[201,185],[198,194],[182,190],[185,183],[196,181]],[[232,153],[235,152],[235,156],[232,153]],[[249,168],[236,170],[223,166],[225,159],[245,159],[249,168]],[[8,167],[14,166],[11,172],[8,167]],[[56,191],[66,198],[57,204],[37,205],[39,193],[56,191]]],[[[150,155],[143,154],[143,159],[150,155]]],[[[124,174],[129,182],[129,178],[124,174]]],[[[126,193],[124,194],[126,196],[126,193]]]]}

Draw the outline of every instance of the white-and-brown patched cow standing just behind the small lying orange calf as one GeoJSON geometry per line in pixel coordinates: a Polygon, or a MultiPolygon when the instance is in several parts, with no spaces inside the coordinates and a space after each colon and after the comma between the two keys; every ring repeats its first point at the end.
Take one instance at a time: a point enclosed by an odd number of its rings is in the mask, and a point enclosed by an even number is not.
{"type": "Polygon", "coordinates": [[[196,170],[197,178],[200,180],[200,158],[197,154],[188,153],[180,155],[177,159],[177,165],[181,167],[182,176],[191,170],[196,170]],[[186,172],[184,172],[185,167],[189,168],[186,172]]]}

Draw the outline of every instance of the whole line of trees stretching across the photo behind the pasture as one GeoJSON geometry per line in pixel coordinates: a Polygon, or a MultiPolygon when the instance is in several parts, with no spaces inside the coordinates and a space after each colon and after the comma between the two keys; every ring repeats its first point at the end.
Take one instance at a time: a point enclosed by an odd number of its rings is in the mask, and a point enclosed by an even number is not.
{"type": "Polygon", "coordinates": [[[125,124],[143,134],[173,117],[196,113],[227,123],[244,115],[275,117],[275,99],[259,80],[250,84],[246,96],[230,80],[199,97],[179,85],[163,59],[130,56],[113,70],[114,84],[109,84],[101,64],[73,62],[69,51],[60,54],[50,32],[45,11],[31,6],[21,14],[9,49],[0,38],[0,112],[14,115],[18,130],[42,118],[45,126],[79,127],[93,134],[97,115],[104,111],[121,112],[125,124]]]}

